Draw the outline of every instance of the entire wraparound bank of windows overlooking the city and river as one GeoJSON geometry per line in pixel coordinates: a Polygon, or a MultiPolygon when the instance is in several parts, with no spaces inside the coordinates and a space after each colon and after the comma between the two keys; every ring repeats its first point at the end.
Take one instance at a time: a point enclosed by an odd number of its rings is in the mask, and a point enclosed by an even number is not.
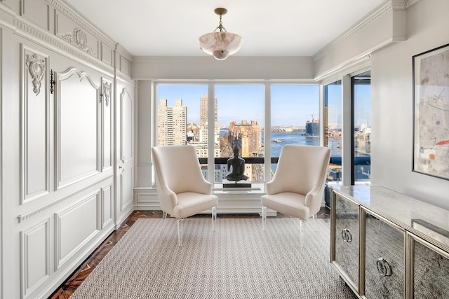
{"type": "Polygon", "coordinates": [[[269,180],[285,144],[330,147],[328,181],[342,181],[343,169],[347,172],[344,178],[349,180],[350,175],[351,183],[370,180],[370,71],[324,85],[323,111],[319,85],[265,81],[159,82],[154,102],[157,145],[196,146],[208,181],[219,183],[229,174],[227,159],[234,155],[234,146],[239,146],[240,156],[246,160],[250,181],[269,180]],[[351,126],[344,125],[345,113],[351,126]],[[345,134],[344,127],[352,132],[345,134]],[[352,136],[344,146],[343,136],[352,136]],[[212,151],[208,148],[211,145],[212,151]],[[267,153],[269,161],[264,160],[267,153]],[[342,165],[345,155],[348,158],[342,165]],[[208,178],[208,174],[213,177],[208,178]]]}

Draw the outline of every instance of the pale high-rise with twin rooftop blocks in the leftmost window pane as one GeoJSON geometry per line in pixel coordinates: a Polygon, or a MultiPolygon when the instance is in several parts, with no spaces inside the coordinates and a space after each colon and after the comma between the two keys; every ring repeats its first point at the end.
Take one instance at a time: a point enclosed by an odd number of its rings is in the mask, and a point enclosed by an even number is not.
{"type": "Polygon", "coordinates": [[[157,111],[157,144],[174,146],[187,144],[187,107],[182,99],[175,100],[175,106],[168,106],[161,99],[157,111]]]}

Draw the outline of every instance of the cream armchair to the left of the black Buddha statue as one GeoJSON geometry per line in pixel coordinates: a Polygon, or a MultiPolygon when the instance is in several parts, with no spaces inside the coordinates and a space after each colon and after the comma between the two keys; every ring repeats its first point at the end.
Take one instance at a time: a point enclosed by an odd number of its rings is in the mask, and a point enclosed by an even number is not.
{"type": "Polygon", "coordinates": [[[184,218],[212,209],[212,229],[217,218],[217,196],[213,183],[204,179],[194,146],[155,146],[152,148],[156,185],[163,218],[177,218],[178,246],[182,246],[184,218]]]}

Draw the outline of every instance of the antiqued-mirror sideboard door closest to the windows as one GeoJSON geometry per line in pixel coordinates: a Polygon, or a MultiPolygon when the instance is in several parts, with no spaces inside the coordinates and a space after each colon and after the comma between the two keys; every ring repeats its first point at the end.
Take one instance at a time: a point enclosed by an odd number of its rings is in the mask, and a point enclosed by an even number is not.
{"type": "Polygon", "coordinates": [[[354,290],[358,291],[358,243],[359,228],[358,204],[350,202],[334,193],[332,208],[333,240],[335,242],[335,267],[342,273],[354,290]]]}

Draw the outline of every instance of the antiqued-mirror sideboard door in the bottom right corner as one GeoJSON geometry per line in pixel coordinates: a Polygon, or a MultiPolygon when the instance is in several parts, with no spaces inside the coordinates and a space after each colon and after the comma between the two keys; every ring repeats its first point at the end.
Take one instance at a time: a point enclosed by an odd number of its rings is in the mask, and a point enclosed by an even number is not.
{"type": "Polygon", "coordinates": [[[411,236],[415,298],[449,298],[449,253],[411,236]]]}

